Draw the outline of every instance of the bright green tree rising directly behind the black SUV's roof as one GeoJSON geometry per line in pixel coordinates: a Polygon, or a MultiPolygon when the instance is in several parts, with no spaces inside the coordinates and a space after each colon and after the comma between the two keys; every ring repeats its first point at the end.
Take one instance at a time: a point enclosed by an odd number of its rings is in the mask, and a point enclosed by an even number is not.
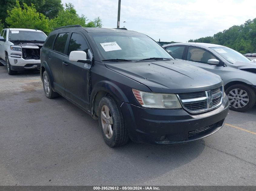
{"type": "Polygon", "coordinates": [[[82,27],[102,27],[101,19],[95,18],[94,21],[89,21],[85,15],[79,16],[74,8],[74,5],[68,3],[65,9],[58,13],[58,16],[50,21],[50,28],[53,30],[65,25],[80,24],[82,27]]]}

